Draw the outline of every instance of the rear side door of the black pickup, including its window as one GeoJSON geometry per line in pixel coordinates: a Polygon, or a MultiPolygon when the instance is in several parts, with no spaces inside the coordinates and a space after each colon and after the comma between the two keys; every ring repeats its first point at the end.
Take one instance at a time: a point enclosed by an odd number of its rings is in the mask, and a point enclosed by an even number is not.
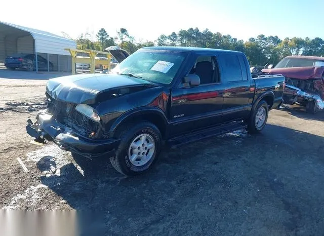
{"type": "Polygon", "coordinates": [[[249,115],[253,96],[252,83],[248,77],[248,66],[240,54],[222,53],[219,55],[221,77],[224,81],[224,102],[222,121],[244,119],[249,115]]]}

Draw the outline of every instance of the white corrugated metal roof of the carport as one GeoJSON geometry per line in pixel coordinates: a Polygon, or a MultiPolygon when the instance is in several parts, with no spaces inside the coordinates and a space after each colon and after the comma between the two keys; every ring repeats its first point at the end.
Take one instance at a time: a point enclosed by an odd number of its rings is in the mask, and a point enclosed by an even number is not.
{"type": "Polygon", "coordinates": [[[76,43],[68,38],[43,30],[0,21],[1,24],[29,32],[35,40],[35,52],[59,55],[70,55],[64,48],[76,48],[76,43]]]}

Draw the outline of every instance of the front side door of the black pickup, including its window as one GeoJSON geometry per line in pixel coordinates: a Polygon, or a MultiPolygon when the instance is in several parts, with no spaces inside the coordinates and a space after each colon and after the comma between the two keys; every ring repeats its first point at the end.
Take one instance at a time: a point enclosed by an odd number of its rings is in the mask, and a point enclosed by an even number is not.
{"type": "Polygon", "coordinates": [[[197,54],[188,73],[200,77],[200,85],[185,87],[182,82],[172,91],[170,121],[172,134],[186,133],[221,121],[224,86],[214,54],[197,54]]]}

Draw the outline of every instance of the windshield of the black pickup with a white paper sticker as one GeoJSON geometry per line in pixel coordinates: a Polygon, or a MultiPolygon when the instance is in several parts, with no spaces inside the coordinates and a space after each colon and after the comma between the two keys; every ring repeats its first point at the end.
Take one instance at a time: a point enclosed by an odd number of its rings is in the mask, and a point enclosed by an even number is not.
{"type": "Polygon", "coordinates": [[[186,54],[163,50],[139,50],[111,70],[112,73],[132,74],[143,80],[170,84],[186,54]]]}

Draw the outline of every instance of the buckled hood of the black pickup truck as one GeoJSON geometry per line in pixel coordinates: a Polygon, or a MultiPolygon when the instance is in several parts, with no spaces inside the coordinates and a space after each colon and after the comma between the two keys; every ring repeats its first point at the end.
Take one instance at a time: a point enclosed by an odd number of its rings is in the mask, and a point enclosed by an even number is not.
{"type": "Polygon", "coordinates": [[[71,103],[96,103],[99,94],[110,90],[132,87],[152,87],[148,81],[119,74],[77,74],[52,78],[46,86],[54,99],[71,103]]]}

